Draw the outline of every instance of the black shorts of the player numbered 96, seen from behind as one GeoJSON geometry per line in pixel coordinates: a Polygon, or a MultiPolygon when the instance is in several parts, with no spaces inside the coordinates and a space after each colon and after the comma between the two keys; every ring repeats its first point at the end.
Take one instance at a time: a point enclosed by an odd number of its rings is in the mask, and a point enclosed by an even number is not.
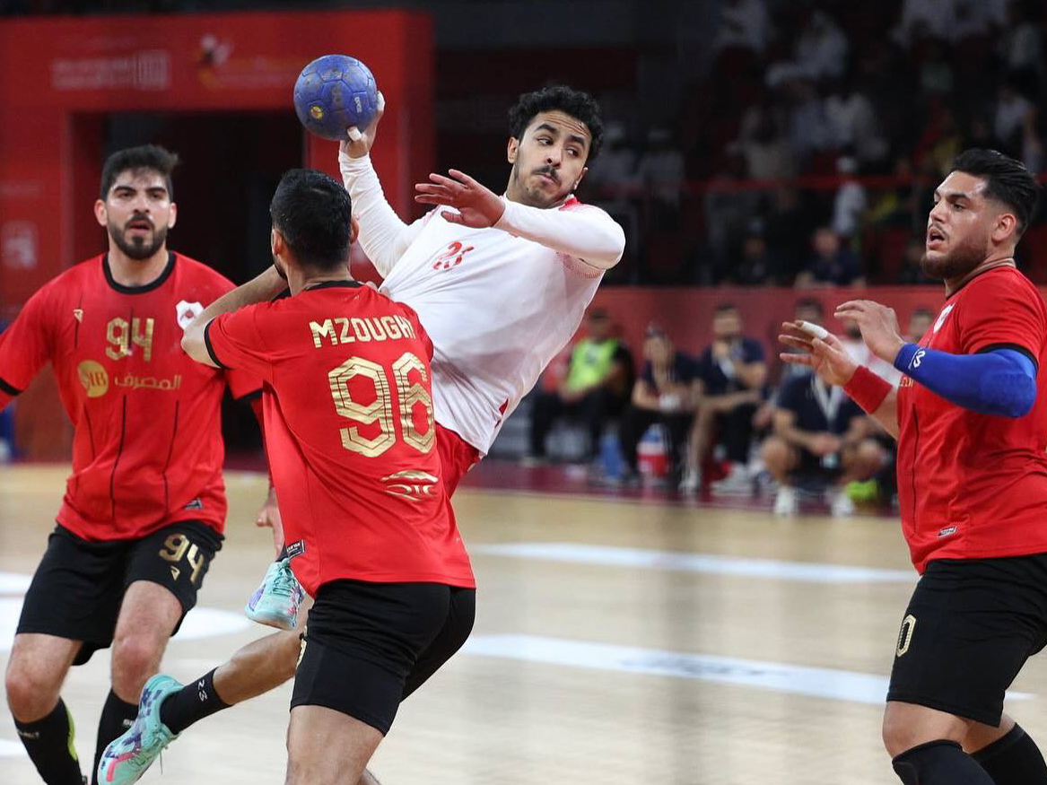
{"type": "Polygon", "coordinates": [[[309,610],[291,706],[322,705],[388,733],[400,701],[472,631],[476,590],[337,580],[309,610]]]}

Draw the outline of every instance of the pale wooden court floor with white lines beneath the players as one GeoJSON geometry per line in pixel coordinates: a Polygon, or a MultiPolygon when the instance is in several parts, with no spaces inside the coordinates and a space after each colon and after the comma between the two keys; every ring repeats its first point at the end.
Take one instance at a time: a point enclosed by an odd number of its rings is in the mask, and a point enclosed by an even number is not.
{"type": "MultiPolygon", "coordinates": [[[[3,666],[64,474],[0,468],[3,666]]],[[[164,660],[182,680],[264,633],[240,611],[271,557],[252,524],[264,480],[227,485],[225,546],[164,660]]],[[[384,785],[896,782],[879,718],[915,581],[897,521],[475,488],[454,507],[476,627],[401,708],[373,760],[384,785]]],[[[1009,710],[1047,740],[1047,657],[1015,690],[1009,710]]],[[[107,652],[64,691],[85,769],[107,691],[107,652]]],[[[141,782],[282,783],[289,696],[203,720],[141,782]]],[[[9,719],[0,782],[39,782],[9,719]]]]}

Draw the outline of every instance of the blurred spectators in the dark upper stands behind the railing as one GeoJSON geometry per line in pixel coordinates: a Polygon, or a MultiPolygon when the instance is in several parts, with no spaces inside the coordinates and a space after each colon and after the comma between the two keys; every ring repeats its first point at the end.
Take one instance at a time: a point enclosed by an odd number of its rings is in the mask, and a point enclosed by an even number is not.
{"type": "MultiPolygon", "coordinates": [[[[591,173],[591,198],[631,229],[630,283],[923,283],[910,241],[960,151],[1047,165],[1047,3],[720,8],[711,67],[674,127],[612,125],[591,173]]],[[[1020,264],[1047,282],[1047,259],[1023,246],[1020,264]]]]}

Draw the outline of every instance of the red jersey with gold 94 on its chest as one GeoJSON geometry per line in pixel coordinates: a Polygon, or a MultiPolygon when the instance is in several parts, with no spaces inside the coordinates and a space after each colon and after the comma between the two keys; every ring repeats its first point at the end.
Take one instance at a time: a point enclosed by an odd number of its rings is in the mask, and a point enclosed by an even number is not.
{"type": "Polygon", "coordinates": [[[181,340],[230,289],[179,253],[151,284],[121,286],[99,255],[45,284],[0,334],[0,408],[50,361],[75,428],[63,526],[92,541],[187,519],[222,531],[222,395],[227,382],[236,397],[260,382],[194,362],[181,340]]]}

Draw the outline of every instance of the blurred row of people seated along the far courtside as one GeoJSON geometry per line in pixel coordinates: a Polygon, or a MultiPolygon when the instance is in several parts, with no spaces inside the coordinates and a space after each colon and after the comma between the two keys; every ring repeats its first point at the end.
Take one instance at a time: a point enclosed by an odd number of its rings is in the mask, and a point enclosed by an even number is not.
{"type": "MultiPolygon", "coordinates": [[[[801,296],[793,317],[822,324],[823,307],[801,296]]],[[[933,320],[931,310],[915,309],[906,339],[918,341],[933,320]]],[[[855,362],[892,385],[900,382],[894,367],[870,354],[856,324],[842,328],[840,339],[855,362]]],[[[532,396],[528,463],[547,461],[551,430],[574,421],[586,436],[586,449],[574,457],[600,481],[653,483],[685,495],[771,489],[783,516],[796,514],[804,494],[822,495],[837,516],[853,514],[855,502],[891,501],[893,440],[842,388],[803,365],[777,362],[782,347],[748,334],[735,306],[714,309],[712,340],[701,351],[684,351],[665,330],[649,327],[636,366],[614,334],[607,314],[593,310],[559,384],[532,396]],[[600,454],[608,436],[621,455],[614,472],[600,454]],[[640,445],[651,440],[664,461],[645,466],[640,445]]]]}

